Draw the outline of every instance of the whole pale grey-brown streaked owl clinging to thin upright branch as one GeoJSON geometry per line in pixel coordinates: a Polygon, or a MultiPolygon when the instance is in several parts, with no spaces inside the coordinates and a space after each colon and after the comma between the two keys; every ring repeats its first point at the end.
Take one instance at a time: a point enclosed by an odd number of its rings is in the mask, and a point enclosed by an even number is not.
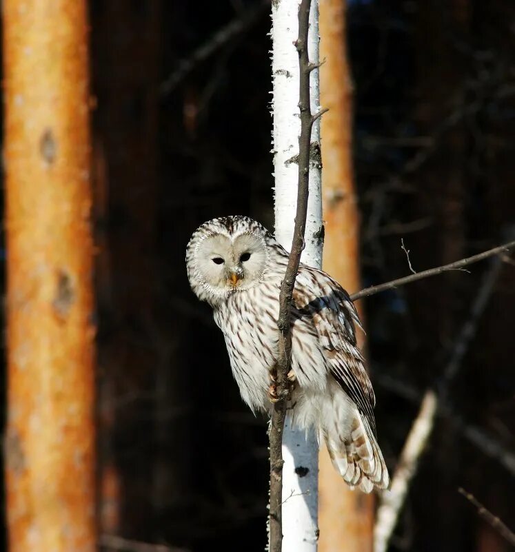
{"type": "MultiPolygon", "coordinates": [[[[186,249],[193,292],[213,309],[232,374],[252,411],[271,413],[279,356],[279,292],[288,253],[245,216],[214,218],[186,249]]],[[[292,424],[314,429],[334,467],[354,489],[385,489],[388,471],[376,440],[375,396],[356,345],[361,327],[347,292],[301,263],[291,305],[292,424]]]]}

